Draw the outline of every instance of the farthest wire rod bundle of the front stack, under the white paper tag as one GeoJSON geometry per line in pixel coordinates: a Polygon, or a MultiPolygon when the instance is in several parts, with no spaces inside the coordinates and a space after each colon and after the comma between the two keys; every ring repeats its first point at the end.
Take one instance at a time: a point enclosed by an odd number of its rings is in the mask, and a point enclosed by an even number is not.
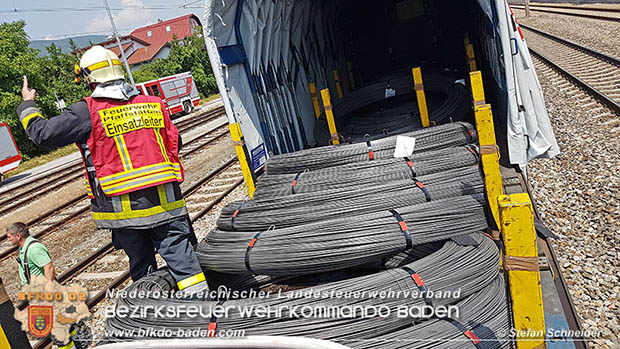
{"type": "MultiPolygon", "coordinates": [[[[414,137],[414,153],[466,145],[476,140],[471,124],[455,122],[427,127],[403,136],[414,137]]],[[[268,174],[299,173],[355,162],[365,162],[394,156],[396,136],[366,143],[343,144],[306,149],[271,157],[266,164],[268,174]]]]}

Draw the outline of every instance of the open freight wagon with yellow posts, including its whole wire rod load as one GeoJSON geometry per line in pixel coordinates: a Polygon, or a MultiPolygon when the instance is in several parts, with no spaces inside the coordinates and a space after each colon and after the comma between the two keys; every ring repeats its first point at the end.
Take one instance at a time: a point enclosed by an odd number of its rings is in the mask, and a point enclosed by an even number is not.
{"type": "MultiPolygon", "coordinates": [[[[410,309],[406,300],[365,292],[400,289],[419,291],[412,303],[458,304],[464,313],[413,320],[361,312],[353,319],[290,312],[233,313],[200,324],[167,319],[166,326],[191,323],[249,336],[184,345],[587,347],[553,233],[530,195],[527,163],[559,149],[527,42],[506,1],[205,4],[205,42],[252,200],[223,208],[217,229],[199,246],[201,264],[214,289],[224,280],[237,287],[284,283],[293,291],[200,304],[371,304],[389,311],[404,302],[410,309]],[[437,184],[444,180],[452,184],[437,184]],[[463,217],[476,217],[484,234],[459,235],[478,229],[463,217]],[[310,281],[287,285],[295,277],[310,281]],[[478,291],[428,296],[455,285],[478,291]],[[291,300],[298,287],[327,296],[291,300]],[[333,296],[343,290],[358,296],[333,296]]],[[[132,287],[155,282],[173,289],[166,280],[158,274],[132,287]]],[[[108,322],[108,328],[131,326],[108,322]]]]}

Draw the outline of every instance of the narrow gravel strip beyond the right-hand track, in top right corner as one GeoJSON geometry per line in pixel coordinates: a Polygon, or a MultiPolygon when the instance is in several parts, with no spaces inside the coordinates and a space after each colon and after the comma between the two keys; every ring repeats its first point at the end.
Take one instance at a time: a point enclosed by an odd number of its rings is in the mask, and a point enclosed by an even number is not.
{"type": "MultiPolygon", "coordinates": [[[[620,9],[620,4],[604,7],[620,9]]],[[[517,21],[521,24],[574,41],[611,56],[620,57],[620,35],[618,35],[620,26],[617,22],[534,11],[530,12],[530,17],[525,17],[524,10],[513,9],[513,11],[517,21]]],[[[525,39],[527,40],[527,36],[525,39]]]]}

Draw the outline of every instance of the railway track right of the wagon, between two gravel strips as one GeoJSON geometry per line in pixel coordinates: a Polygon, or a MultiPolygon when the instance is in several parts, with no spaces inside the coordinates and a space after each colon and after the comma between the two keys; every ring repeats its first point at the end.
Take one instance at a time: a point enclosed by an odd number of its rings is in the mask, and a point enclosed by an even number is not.
{"type": "Polygon", "coordinates": [[[620,115],[620,60],[521,25],[532,55],[620,115]]]}

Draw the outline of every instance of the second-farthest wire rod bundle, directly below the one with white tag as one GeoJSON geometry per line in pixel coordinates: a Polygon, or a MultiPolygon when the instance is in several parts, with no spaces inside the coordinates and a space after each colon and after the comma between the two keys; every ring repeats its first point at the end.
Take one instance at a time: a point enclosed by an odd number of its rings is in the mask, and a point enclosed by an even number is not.
{"type": "Polygon", "coordinates": [[[264,174],[255,199],[295,195],[321,190],[361,187],[394,180],[414,179],[478,163],[475,146],[445,148],[417,153],[408,158],[391,158],[334,166],[297,174],[264,174]]]}

